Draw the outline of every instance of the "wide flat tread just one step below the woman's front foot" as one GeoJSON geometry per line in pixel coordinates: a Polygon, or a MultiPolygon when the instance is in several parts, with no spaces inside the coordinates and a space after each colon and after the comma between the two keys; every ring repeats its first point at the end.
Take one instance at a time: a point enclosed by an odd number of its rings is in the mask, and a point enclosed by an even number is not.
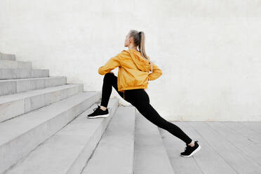
{"type": "Polygon", "coordinates": [[[119,107],[82,174],[133,173],[135,107],[119,107]]]}

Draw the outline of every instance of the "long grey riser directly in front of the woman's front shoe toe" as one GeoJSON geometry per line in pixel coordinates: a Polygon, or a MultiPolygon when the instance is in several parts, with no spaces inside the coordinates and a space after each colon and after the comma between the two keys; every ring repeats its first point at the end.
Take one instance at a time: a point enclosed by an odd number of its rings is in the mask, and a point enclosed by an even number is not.
{"type": "Polygon", "coordinates": [[[71,107],[66,112],[58,114],[53,119],[41,123],[41,125],[36,128],[27,131],[27,133],[20,135],[18,138],[15,138],[15,140],[1,146],[0,159],[5,160],[0,161],[0,173],[8,170],[8,168],[25,157],[35,147],[66,126],[69,121],[72,121],[72,119],[84,112],[88,107],[91,107],[99,98],[100,95],[93,95],[91,98],[83,100],[78,105],[71,107]]]}

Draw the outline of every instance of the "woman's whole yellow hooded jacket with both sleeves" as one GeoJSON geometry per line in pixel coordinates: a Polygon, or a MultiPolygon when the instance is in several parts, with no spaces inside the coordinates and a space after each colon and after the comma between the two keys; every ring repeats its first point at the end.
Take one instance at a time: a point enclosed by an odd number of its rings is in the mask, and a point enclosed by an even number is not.
{"type": "Polygon", "coordinates": [[[118,91],[124,92],[129,89],[147,88],[148,81],[158,79],[162,71],[154,63],[152,66],[153,72],[149,73],[152,70],[149,60],[143,58],[139,51],[128,49],[110,58],[104,66],[99,67],[98,73],[104,75],[119,67],[118,91]]]}

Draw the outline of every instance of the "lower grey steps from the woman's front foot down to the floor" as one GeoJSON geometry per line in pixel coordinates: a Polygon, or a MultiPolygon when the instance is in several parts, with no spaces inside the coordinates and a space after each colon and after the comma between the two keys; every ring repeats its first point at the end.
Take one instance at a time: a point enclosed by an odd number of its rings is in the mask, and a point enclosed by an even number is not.
{"type": "Polygon", "coordinates": [[[86,119],[99,102],[6,170],[5,174],[174,174],[159,128],[135,107],[109,100],[107,118],[86,119]]]}

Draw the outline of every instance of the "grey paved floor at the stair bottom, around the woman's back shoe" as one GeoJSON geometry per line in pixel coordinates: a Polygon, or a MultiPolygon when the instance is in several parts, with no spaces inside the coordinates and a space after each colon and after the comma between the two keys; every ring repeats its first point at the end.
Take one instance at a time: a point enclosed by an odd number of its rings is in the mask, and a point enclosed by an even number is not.
{"type": "Polygon", "coordinates": [[[261,173],[261,122],[171,123],[201,145],[194,156],[181,157],[185,143],[159,128],[174,173],[261,173]]]}

